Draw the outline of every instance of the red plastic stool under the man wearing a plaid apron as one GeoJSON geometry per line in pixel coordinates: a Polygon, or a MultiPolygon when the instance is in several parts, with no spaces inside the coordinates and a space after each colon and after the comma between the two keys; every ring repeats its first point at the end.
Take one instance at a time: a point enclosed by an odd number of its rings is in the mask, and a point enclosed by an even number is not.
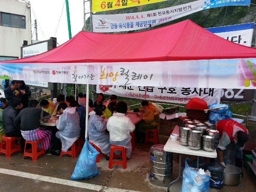
{"type": "Polygon", "coordinates": [[[37,157],[41,154],[44,154],[45,156],[45,151],[44,151],[44,143],[43,140],[38,140],[38,141],[26,141],[25,142],[25,149],[24,149],[24,154],[23,154],[23,159],[25,156],[32,157],[32,161],[36,161],[37,157]],[[38,148],[38,143],[42,143],[43,148],[38,148]],[[26,145],[31,144],[32,148],[26,149],[26,145]]]}

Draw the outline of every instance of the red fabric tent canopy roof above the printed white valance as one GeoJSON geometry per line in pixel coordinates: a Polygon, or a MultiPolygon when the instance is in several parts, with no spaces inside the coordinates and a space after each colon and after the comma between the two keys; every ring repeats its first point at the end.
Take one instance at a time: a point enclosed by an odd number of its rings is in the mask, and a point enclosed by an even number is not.
{"type": "Polygon", "coordinates": [[[191,20],[143,32],[79,32],[55,49],[9,63],[90,63],[255,58],[256,49],[227,41],[191,20]]]}

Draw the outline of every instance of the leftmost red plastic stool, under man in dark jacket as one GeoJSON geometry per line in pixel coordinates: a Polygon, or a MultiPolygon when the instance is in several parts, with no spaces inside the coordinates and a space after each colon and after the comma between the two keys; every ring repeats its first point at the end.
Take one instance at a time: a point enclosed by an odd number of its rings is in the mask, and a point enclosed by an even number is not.
{"type": "Polygon", "coordinates": [[[20,146],[20,137],[7,137],[6,135],[4,135],[2,137],[0,154],[5,153],[6,157],[11,157],[11,154],[16,151],[20,151],[20,153],[22,152],[20,146]],[[19,145],[15,144],[16,140],[19,145]]]}

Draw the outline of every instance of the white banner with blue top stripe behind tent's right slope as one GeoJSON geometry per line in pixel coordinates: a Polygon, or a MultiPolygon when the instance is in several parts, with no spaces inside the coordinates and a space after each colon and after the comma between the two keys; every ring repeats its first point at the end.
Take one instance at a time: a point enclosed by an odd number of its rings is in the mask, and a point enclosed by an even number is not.
{"type": "Polygon", "coordinates": [[[224,39],[251,47],[254,23],[205,28],[224,39]]]}

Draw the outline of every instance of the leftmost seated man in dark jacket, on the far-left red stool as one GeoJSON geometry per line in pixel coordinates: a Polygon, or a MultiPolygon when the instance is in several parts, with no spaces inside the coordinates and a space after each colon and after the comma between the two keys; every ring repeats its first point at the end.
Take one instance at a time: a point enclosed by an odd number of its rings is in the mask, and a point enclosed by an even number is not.
{"type": "Polygon", "coordinates": [[[23,105],[20,99],[11,99],[10,105],[3,111],[3,131],[8,137],[20,137],[21,148],[24,148],[25,140],[23,139],[20,130],[15,128],[13,123],[22,107],[23,105]]]}

